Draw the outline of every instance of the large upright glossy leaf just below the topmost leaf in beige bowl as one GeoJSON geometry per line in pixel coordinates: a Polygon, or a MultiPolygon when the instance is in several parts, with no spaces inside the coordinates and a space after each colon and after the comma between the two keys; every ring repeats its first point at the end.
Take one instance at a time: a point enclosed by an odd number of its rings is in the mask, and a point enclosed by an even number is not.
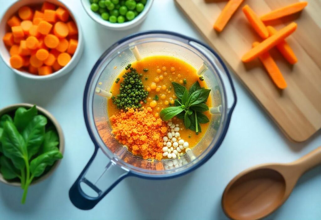
{"type": "Polygon", "coordinates": [[[22,132],[22,136],[26,142],[29,159],[39,151],[40,145],[44,140],[46,124],[47,118],[42,115],[37,115],[33,117],[22,132]]]}

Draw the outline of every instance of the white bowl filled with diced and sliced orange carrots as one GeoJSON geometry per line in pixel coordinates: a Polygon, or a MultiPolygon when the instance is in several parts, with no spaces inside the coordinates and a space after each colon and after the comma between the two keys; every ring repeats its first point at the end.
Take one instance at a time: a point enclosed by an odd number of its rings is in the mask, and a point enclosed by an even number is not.
{"type": "Polygon", "coordinates": [[[70,72],[83,51],[82,32],[58,0],[20,0],[0,23],[0,55],[18,75],[53,79],[70,72]]]}

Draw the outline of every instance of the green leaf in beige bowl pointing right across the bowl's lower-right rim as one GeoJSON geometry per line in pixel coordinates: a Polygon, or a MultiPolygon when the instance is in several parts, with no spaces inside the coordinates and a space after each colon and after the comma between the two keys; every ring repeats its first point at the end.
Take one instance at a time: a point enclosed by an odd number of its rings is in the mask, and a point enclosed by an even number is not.
{"type": "Polygon", "coordinates": [[[62,159],[62,154],[58,150],[53,150],[39,155],[30,163],[30,172],[33,176],[38,177],[45,171],[48,165],[52,165],[55,161],[62,159]]]}

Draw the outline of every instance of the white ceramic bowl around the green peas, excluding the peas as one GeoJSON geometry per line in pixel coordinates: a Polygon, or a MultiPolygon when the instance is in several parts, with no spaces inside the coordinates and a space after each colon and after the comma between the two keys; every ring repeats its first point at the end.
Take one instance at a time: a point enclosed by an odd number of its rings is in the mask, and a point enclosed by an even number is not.
{"type": "Polygon", "coordinates": [[[129,22],[124,22],[124,23],[110,23],[108,21],[103,20],[100,17],[99,13],[93,12],[90,9],[90,1],[89,0],[81,0],[82,6],[84,7],[85,11],[87,14],[92,18],[97,23],[100,23],[102,26],[112,29],[112,30],[127,30],[130,28],[133,28],[137,26],[138,24],[142,23],[144,19],[146,18],[147,13],[152,7],[154,0],[147,0],[147,3],[144,7],[144,10],[137,16],[135,17],[132,21],[129,22]]]}

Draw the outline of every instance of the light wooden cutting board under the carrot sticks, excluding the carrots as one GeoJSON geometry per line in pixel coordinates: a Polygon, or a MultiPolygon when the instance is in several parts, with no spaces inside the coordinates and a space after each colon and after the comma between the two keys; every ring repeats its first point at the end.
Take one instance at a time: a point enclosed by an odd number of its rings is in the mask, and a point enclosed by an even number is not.
{"type": "Polygon", "coordinates": [[[276,50],[270,53],[288,87],[275,87],[258,59],[247,63],[241,57],[254,41],[262,41],[247,22],[242,7],[248,4],[258,15],[297,0],[245,0],[221,33],[213,24],[227,0],[175,0],[208,44],[230,65],[256,100],[290,139],[302,142],[321,128],[321,1],[309,0],[301,12],[271,22],[277,30],[294,21],[297,30],[286,40],[298,57],[290,65],[276,50]]]}

